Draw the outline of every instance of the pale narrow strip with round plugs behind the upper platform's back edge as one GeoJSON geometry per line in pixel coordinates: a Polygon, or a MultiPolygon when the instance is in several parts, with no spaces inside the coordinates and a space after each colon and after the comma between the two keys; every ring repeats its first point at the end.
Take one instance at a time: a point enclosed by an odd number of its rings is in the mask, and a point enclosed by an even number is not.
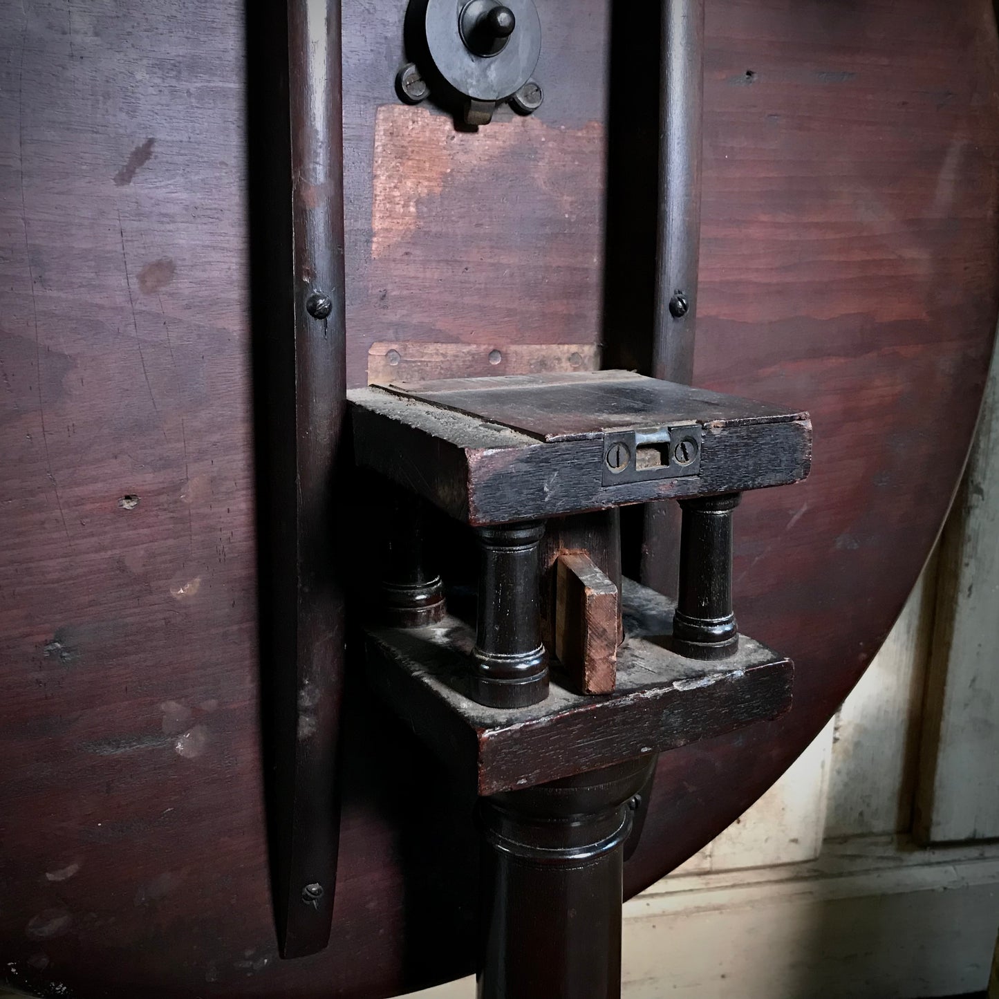
{"type": "Polygon", "coordinates": [[[595,371],[594,344],[431,344],[378,342],[368,351],[368,384],[395,385],[487,375],[550,375],[595,371]]]}

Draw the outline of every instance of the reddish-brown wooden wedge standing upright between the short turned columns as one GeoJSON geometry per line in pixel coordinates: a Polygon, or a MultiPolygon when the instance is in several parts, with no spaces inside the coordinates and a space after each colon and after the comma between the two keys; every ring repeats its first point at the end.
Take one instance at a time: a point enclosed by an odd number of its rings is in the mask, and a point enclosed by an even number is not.
{"type": "Polygon", "coordinates": [[[581,551],[560,554],[555,576],[555,655],[580,693],[610,693],[616,680],[617,587],[581,551]]]}

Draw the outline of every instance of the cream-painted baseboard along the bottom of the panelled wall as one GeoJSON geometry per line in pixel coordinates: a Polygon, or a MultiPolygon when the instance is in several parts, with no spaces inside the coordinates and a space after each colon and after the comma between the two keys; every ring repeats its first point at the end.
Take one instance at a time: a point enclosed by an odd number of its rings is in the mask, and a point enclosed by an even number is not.
{"type": "Polygon", "coordinates": [[[980,992],[999,926],[999,845],[827,842],[808,863],[666,878],[624,911],[628,999],[980,992]]]}

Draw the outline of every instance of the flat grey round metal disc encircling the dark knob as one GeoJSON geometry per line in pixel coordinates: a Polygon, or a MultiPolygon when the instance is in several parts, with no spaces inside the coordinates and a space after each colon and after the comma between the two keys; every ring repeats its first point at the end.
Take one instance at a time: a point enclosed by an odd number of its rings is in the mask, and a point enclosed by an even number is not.
{"type": "Polygon", "coordinates": [[[462,40],[464,0],[430,0],[427,44],[441,75],[460,93],[477,101],[502,101],[534,72],[541,53],[541,22],[533,0],[505,0],[516,27],[501,52],[478,56],[462,40]]]}

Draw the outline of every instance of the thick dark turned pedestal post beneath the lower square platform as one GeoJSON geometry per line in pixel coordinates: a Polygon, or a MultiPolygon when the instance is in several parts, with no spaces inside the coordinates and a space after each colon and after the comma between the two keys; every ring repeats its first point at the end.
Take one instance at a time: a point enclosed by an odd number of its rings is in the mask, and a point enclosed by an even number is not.
{"type": "Polygon", "coordinates": [[[623,844],[648,757],[483,798],[479,999],[617,999],[623,844]]]}

